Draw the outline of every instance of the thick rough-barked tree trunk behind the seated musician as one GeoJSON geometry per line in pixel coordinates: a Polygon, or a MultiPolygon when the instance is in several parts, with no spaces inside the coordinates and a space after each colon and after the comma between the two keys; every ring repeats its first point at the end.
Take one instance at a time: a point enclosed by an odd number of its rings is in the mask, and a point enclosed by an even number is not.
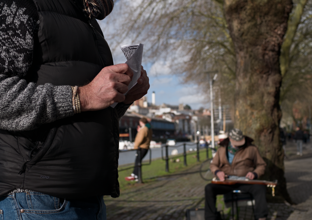
{"type": "Polygon", "coordinates": [[[291,9],[291,0],[224,2],[236,53],[234,124],[259,147],[267,163],[266,174],[261,178],[278,180],[275,201],[289,202],[279,137],[279,55],[291,9]]]}

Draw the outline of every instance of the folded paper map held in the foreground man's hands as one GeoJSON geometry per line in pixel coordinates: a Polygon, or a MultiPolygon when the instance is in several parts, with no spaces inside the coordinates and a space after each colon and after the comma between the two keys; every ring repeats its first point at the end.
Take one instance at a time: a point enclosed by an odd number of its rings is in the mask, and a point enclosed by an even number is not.
{"type": "MultiPolygon", "coordinates": [[[[133,78],[128,86],[128,91],[137,84],[138,79],[141,76],[141,65],[143,56],[143,44],[123,45],[121,46],[124,56],[127,58],[127,64],[133,71],[133,78]]],[[[125,94],[128,93],[128,91],[125,94]]],[[[118,102],[115,102],[111,107],[115,108],[118,102]]]]}

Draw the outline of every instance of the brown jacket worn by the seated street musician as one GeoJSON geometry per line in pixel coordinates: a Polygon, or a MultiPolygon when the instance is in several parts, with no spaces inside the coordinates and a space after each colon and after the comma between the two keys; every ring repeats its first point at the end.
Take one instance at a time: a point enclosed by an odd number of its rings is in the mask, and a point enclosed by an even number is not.
{"type": "Polygon", "coordinates": [[[266,162],[260,156],[258,148],[252,145],[253,139],[245,136],[245,144],[235,153],[232,165],[227,159],[227,146],[229,138],[223,140],[218,148],[216,156],[210,164],[210,170],[215,173],[223,171],[227,175],[246,176],[248,172],[255,172],[258,178],[264,174],[266,162]]]}

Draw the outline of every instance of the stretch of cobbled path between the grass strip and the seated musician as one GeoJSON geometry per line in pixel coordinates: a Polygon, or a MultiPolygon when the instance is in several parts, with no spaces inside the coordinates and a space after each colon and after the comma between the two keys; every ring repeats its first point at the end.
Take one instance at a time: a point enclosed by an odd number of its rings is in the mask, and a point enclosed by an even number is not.
{"type": "MultiPolygon", "coordinates": [[[[198,166],[189,171],[197,171],[198,166]]],[[[108,220],[183,219],[187,208],[204,200],[206,181],[198,173],[158,179],[130,190],[117,199],[104,198],[108,220]]]]}

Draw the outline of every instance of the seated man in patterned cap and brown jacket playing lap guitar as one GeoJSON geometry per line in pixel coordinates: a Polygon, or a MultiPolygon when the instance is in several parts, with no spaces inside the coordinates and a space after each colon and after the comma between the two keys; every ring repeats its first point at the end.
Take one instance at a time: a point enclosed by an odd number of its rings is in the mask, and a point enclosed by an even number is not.
{"type": "MultiPolygon", "coordinates": [[[[240,129],[232,129],[229,138],[223,140],[217,150],[216,156],[210,164],[210,170],[220,181],[224,181],[226,175],[246,176],[253,180],[264,174],[266,163],[260,156],[258,148],[252,145],[253,139],[243,136],[240,129]]],[[[250,184],[218,185],[208,184],[205,187],[205,219],[218,220],[216,209],[217,194],[226,194],[233,190],[249,192],[255,199],[255,216],[259,220],[265,220],[268,215],[266,204],[266,186],[250,184]]]]}

